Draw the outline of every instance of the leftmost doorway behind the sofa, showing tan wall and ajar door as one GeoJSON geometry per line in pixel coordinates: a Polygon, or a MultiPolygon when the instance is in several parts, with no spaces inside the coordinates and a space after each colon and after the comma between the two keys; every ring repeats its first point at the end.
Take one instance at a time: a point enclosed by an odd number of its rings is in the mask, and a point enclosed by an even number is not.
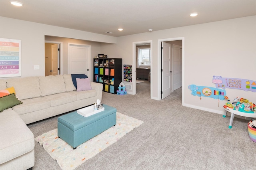
{"type": "Polygon", "coordinates": [[[44,52],[44,76],[62,74],[62,42],[45,41],[44,52]]]}

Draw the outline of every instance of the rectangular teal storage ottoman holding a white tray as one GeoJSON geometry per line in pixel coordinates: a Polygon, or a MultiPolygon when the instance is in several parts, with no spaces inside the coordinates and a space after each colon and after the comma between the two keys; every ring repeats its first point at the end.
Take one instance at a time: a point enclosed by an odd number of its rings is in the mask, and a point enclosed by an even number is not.
{"type": "Polygon", "coordinates": [[[116,108],[104,105],[104,111],[83,117],[76,113],[68,113],[58,117],[58,136],[73,149],[116,125],[116,108]]]}

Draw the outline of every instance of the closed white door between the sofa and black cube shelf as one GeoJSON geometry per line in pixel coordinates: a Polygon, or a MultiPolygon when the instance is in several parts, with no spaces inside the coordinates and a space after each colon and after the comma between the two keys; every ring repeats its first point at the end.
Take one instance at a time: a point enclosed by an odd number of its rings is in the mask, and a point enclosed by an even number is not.
{"type": "Polygon", "coordinates": [[[68,43],[68,58],[69,74],[85,74],[91,77],[91,45],[68,43]]]}

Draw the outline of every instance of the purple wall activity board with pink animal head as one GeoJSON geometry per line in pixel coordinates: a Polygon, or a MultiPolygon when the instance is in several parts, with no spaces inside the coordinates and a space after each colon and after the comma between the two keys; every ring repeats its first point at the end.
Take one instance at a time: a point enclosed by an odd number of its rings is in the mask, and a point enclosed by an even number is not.
{"type": "Polygon", "coordinates": [[[216,84],[216,88],[240,89],[244,91],[256,92],[256,81],[248,79],[227,78],[221,76],[213,76],[212,83],[216,84]]]}

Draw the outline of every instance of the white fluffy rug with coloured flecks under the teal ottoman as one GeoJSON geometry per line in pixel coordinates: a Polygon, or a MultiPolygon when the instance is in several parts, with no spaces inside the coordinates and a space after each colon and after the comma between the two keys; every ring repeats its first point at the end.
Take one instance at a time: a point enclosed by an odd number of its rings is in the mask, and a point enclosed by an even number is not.
{"type": "Polygon", "coordinates": [[[116,126],[77,146],[76,149],[58,138],[57,129],[41,134],[35,140],[57,160],[62,170],[73,170],[142,123],[143,121],[116,112],[116,126]]]}

